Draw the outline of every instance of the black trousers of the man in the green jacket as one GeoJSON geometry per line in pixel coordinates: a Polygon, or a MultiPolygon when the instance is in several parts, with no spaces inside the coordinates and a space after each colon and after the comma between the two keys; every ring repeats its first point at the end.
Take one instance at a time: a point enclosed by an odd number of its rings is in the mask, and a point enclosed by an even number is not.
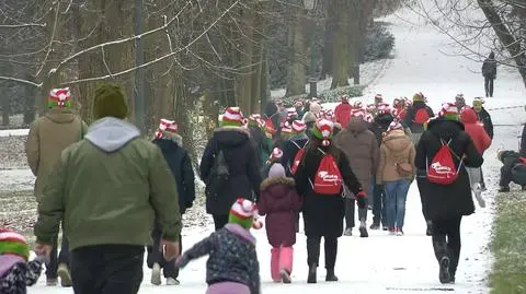
{"type": "Polygon", "coordinates": [[[136,294],[142,282],[144,246],[96,245],[71,251],[76,294],[136,294]]]}

